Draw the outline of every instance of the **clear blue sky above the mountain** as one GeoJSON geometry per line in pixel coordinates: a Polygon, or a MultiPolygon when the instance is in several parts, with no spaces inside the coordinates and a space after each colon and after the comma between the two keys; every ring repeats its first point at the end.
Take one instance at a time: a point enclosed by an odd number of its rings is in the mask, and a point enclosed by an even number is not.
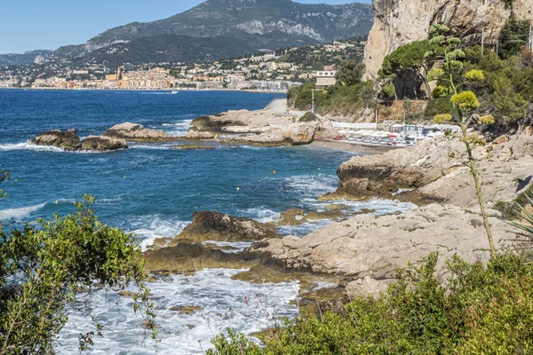
{"type": "MultiPolygon", "coordinates": [[[[0,53],[54,50],[84,43],[108,28],[133,21],[160,20],[203,0],[2,0],[0,53]]],[[[299,0],[307,4],[346,4],[343,0],[299,0]]],[[[357,2],[370,4],[370,0],[357,2]]]]}

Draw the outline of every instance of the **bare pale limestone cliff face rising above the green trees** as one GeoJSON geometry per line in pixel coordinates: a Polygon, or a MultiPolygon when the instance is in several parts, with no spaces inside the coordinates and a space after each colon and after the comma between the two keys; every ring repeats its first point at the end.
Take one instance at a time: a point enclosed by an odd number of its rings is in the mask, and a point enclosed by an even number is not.
{"type": "Polygon", "coordinates": [[[517,20],[533,20],[533,1],[512,0],[374,0],[374,26],[364,62],[367,78],[378,74],[383,59],[403,44],[424,40],[434,23],[448,25],[468,43],[494,45],[511,12],[517,20]]]}

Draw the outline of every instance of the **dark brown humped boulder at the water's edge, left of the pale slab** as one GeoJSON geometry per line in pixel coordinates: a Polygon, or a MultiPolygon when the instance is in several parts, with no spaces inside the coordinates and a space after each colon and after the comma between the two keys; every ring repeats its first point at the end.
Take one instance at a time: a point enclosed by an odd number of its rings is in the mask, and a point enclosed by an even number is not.
{"type": "Polygon", "coordinates": [[[187,241],[260,241],[277,238],[275,226],[220,212],[195,212],[193,222],[176,239],[187,241]]]}

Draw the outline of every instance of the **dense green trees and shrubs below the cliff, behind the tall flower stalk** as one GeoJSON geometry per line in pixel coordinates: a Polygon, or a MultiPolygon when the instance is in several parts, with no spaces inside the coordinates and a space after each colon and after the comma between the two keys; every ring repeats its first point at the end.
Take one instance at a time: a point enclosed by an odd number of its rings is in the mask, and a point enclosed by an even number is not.
{"type": "MultiPolygon", "coordinates": [[[[529,31],[529,22],[509,20],[502,29],[498,51],[481,50],[481,46],[465,46],[453,43],[455,54],[460,54],[460,67],[453,68],[452,79],[460,80],[467,72],[482,73],[483,80],[468,80],[460,83],[458,91],[472,91],[480,102],[471,114],[491,114],[497,127],[513,127],[514,122],[524,118],[533,103],[533,65],[530,53],[524,48],[529,31]]],[[[451,34],[447,34],[451,35],[451,34]]],[[[442,36],[439,35],[439,36],[442,36]]],[[[440,39],[445,39],[439,37],[440,39]]],[[[379,71],[380,97],[382,99],[426,99],[423,119],[432,119],[435,114],[457,114],[451,102],[451,87],[433,78],[437,86],[429,85],[428,73],[438,69],[442,59],[442,45],[435,40],[425,40],[403,45],[386,56],[379,71]],[[426,53],[431,55],[426,56],[426,53]],[[393,90],[394,89],[394,90],[393,90]]],[[[456,59],[453,59],[456,60],[456,59]]],[[[434,72],[435,73],[435,72],[434,72]]],[[[458,82],[457,82],[458,83],[458,82]]]]}

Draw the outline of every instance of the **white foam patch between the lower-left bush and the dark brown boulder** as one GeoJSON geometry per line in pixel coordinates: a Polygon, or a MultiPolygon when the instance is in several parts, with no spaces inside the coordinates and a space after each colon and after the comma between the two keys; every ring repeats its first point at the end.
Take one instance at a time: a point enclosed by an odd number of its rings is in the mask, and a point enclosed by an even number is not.
{"type": "Polygon", "coordinates": [[[130,232],[139,237],[139,245],[142,250],[154,244],[156,238],[172,238],[181,233],[190,222],[180,220],[163,219],[159,215],[139,217],[138,221],[133,222],[133,228],[130,232]]]}

